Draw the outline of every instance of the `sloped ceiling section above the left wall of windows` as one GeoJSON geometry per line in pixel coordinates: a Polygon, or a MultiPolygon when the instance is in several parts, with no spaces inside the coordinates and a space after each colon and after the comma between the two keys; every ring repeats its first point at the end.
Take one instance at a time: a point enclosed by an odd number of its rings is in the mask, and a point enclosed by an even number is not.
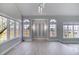
{"type": "Polygon", "coordinates": [[[0,13],[4,13],[16,19],[21,19],[21,14],[14,4],[3,4],[0,3],[0,13]]]}

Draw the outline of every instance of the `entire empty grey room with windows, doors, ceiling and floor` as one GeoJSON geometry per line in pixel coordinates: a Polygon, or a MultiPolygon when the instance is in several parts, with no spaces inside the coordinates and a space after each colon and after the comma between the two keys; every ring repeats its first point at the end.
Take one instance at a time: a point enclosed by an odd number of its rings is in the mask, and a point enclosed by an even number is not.
{"type": "Polygon", "coordinates": [[[79,55],[79,3],[0,3],[0,55],[79,55]]]}

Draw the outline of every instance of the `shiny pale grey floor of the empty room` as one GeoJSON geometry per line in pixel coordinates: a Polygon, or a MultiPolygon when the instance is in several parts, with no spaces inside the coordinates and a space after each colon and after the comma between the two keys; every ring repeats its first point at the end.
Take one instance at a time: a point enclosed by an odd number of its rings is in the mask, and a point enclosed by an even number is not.
{"type": "Polygon", "coordinates": [[[59,42],[33,41],[23,42],[13,48],[7,55],[77,55],[79,44],[62,44],[59,42]]]}

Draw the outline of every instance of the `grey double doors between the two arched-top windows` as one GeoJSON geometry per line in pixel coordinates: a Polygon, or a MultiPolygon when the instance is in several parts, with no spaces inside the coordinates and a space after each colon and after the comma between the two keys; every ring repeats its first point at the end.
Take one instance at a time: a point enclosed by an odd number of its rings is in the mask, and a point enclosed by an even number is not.
{"type": "Polygon", "coordinates": [[[35,40],[48,39],[48,20],[46,19],[32,20],[32,38],[35,40]]]}

